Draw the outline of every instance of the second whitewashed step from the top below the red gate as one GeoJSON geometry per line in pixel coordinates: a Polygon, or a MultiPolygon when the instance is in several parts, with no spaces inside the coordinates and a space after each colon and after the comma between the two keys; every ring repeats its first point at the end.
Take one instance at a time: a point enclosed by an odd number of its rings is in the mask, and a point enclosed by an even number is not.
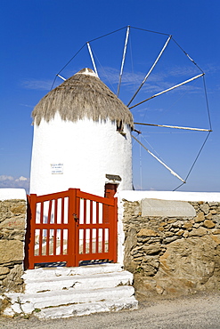
{"type": "Polygon", "coordinates": [[[34,280],[25,280],[26,293],[40,293],[44,291],[60,291],[101,289],[116,287],[118,285],[132,285],[133,275],[128,271],[116,273],[102,273],[90,276],[68,276],[68,277],[38,277],[34,280]]]}

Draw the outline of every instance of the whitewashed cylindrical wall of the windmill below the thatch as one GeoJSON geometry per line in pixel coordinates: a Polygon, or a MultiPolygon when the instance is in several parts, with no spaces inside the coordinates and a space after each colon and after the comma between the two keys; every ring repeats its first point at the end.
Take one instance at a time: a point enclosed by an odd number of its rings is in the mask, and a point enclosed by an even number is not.
{"type": "Polygon", "coordinates": [[[126,137],[110,120],[85,118],[65,122],[53,120],[34,125],[30,193],[44,195],[69,188],[104,196],[106,173],[122,178],[118,190],[132,189],[132,145],[130,127],[126,137]],[[62,164],[63,173],[52,173],[51,164],[62,164]]]}

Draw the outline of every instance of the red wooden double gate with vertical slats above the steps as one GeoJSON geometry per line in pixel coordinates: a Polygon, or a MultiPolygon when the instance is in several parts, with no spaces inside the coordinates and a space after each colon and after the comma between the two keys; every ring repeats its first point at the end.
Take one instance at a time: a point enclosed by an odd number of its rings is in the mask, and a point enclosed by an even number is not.
{"type": "Polygon", "coordinates": [[[64,262],[117,261],[117,198],[80,189],[28,197],[25,267],[64,262]]]}

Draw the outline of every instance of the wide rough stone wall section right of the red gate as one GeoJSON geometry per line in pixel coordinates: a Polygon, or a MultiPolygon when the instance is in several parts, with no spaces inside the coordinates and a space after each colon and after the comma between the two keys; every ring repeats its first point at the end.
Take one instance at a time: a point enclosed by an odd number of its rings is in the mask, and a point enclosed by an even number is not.
{"type": "Polygon", "coordinates": [[[220,289],[220,203],[186,204],[194,216],[155,217],[124,200],[124,266],[137,297],[220,289]]]}

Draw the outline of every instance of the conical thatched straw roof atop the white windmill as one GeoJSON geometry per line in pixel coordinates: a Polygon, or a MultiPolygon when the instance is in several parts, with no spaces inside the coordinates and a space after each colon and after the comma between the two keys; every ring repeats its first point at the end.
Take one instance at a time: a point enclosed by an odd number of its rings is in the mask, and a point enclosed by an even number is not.
{"type": "Polygon", "coordinates": [[[122,121],[133,127],[133,116],[126,105],[110,91],[90,68],[84,68],[48,92],[32,112],[34,123],[49,122],[59,112],[62,120],[76,122],[85,117],[94,121],[122,121]]]}

